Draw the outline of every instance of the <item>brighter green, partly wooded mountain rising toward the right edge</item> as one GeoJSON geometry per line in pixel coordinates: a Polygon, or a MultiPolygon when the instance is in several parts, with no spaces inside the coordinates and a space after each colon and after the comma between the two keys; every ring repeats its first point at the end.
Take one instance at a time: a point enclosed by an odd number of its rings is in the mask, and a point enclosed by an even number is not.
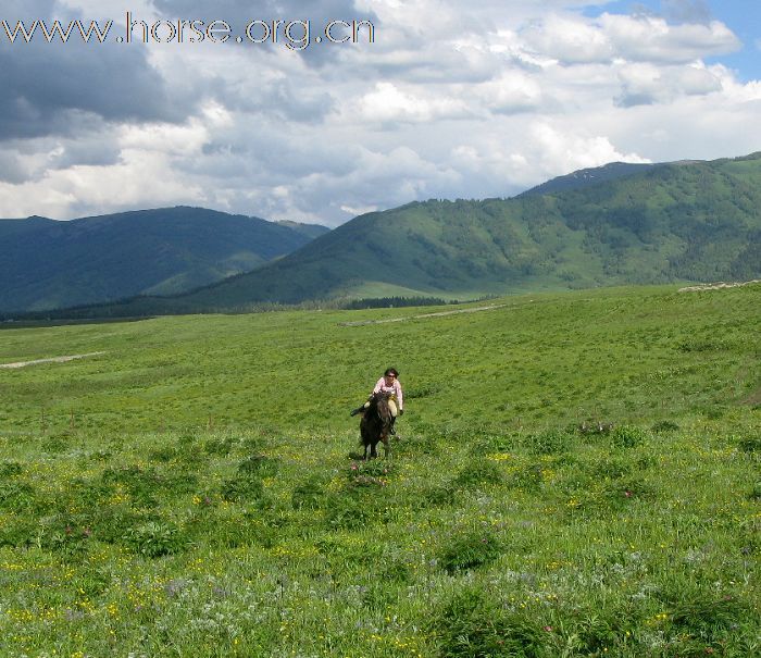
{"type": "Polygon", "coordinates": [[[761,277],[761,153],[612,163],[510,199],[428,200],[354,218],[250,272],[71,316],[240,311],[358,298],[761,277]]]}

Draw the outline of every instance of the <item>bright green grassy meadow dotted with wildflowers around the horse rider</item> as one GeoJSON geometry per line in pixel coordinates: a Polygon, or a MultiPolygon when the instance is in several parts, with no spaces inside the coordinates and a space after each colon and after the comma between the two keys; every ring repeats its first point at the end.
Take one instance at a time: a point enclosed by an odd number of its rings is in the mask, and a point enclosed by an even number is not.
{"type": "Polygon", "coordinates": [[[0,331],[93,355],[0,369],[0,656],[758,656],[760,330],[750,285],[0,331]]]}

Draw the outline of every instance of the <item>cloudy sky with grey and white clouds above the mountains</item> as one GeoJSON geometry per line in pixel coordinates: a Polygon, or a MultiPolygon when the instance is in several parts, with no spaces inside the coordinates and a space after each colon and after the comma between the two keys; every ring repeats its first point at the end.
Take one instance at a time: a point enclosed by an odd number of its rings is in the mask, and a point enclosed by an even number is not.
{"type": "Polygon", "coordinates": [[[758,0],[0,8],[3,218],[189,204],[337,226],[611,161],[761,150],[758,0]],[[54,18],[113,23],[103,44],[76,27],[65,44],[11,41],[17,21],[54,18]]]}

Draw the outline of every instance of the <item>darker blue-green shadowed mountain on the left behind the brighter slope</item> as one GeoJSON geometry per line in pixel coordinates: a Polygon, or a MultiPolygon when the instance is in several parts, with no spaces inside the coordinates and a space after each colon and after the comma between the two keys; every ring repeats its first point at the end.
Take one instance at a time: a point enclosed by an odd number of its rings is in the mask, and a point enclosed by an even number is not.
{"type": "Polygon", "coordinates": [[[0,310],[173,295],[252,270],[325,232],[182,207],[70,222],[2,220],[0,310]]]}

